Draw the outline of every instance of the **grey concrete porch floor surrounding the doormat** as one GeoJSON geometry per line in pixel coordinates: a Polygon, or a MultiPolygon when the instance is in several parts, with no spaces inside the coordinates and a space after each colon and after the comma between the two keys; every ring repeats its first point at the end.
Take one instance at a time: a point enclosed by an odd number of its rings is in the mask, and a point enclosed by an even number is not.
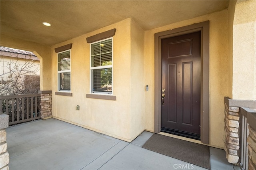
{"type": "MultiPolygon", "coordinates": [[[[205,169],[142,148],[153,134],[146,131],[129,143],[51,118],[6,132],[10,170],[175,170],[180,164],[205,169]]],[[[212,170],[239,169],[217,148],[210,148],[210,162],[212,170]]]]}

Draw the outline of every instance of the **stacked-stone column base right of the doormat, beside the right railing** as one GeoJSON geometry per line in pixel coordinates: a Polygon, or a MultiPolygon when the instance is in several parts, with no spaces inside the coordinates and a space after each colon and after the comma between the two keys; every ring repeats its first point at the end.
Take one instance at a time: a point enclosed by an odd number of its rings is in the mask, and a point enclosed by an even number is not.
{"type": "Polygon", "coordinates": [[[236,164],[239,160],[239,107],[230,107],[225,103],[225,144],[226,158],[229,163],[236,164]]]}

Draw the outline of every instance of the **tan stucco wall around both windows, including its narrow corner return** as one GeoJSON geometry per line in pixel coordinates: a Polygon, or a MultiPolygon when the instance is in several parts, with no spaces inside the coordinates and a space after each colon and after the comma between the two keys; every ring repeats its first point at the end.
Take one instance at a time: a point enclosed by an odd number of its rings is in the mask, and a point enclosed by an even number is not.
{"type": "Polygon", "coordinates": [[[131,141],[144,130],[143,30],[131,19],[52,46],[52,115],[58,119],[131,141]],[[86,38],[116,28],[113,36],[113,95],[116,101],[86,98],[90,93],[90,44],[86,38]],[[57,53],[72,43],[72,97],[57,91],[57,53]],[[133,43],[131,45],[131,43],[133,43]],[[131,47],[134,49],[132,50],[131,47]],[[142,81],[138,81],[142,79],[142,81]],[[80,110],[76,110],[80,105],[80,110]]]}

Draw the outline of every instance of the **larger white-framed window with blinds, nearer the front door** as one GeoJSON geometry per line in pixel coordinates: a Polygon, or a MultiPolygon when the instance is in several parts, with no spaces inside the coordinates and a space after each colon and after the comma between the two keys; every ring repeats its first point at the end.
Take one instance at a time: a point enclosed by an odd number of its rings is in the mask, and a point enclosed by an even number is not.
{"type": "Polygon", "coordinates": [[[90,47],[91,92],[112,94],[112,38],[90,47]]]}

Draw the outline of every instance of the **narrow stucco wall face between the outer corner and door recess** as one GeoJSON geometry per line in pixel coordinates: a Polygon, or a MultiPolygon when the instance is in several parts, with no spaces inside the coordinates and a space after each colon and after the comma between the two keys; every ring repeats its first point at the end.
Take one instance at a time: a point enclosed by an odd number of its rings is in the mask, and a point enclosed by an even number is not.
{"type": "Polygon", "coordinates": [[[144,30],[131,20],[131,138],[145,129],[144,30]]]}

